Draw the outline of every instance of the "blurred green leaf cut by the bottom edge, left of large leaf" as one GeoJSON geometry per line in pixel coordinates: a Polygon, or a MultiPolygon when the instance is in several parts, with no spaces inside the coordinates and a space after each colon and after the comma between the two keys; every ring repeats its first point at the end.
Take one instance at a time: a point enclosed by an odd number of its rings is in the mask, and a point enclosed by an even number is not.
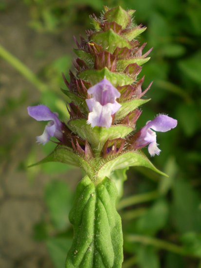
{"type": "Polygon", "coordinates": [[[65,267],[66,252],[70,249],[71,243],[69,238],[49,238],[45,241],[55,268],[65,267]]]}

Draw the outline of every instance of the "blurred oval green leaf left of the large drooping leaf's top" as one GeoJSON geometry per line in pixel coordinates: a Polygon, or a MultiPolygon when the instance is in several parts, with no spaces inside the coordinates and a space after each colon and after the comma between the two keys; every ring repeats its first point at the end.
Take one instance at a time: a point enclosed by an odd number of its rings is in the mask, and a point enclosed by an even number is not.
{"type": "Polygon", "coordinates": [[[62,230],[69,225],[68,214],[72,201],[72,191],[61,180],[55,180],[47,184],[44,199],[51,222],[55,229],[62,230]]]}

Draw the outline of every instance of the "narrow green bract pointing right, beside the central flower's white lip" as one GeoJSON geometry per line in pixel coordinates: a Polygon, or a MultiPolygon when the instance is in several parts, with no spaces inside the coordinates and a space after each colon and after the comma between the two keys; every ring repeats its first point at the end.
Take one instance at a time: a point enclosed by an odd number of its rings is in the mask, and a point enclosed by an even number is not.
{"type": "Polygon", "coordinates": [[[140,105],[148,102],[149,100],[150,98],[149,99],[134,98],[126,102],[121,102],[120,104],[122,105],[122,107],[119,109],[119,111],[116,112],[115,119],[120,120],[124,118],[130,112],[134,111],[140,105]]]}

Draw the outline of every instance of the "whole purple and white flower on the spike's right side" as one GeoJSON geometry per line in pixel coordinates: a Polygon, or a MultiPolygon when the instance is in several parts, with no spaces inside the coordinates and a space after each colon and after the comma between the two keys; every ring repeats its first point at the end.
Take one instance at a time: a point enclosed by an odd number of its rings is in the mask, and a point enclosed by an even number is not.
{"type": "Polygon", "coordinates": [[[141,149],[148,145],[148,152],[151,156],[159,154],[161,150],[157,147],[156,143],[156,133],[154,131],[166,132],[177,126],[177,120],[167,116],[167,115],[158,115],[152,121],[148,121],[146,126],[144,126],[138,135],[138,138],[135,141],[135,149],[141,149]],[[154,130],[154,131],[153,131],[154,130]]]}

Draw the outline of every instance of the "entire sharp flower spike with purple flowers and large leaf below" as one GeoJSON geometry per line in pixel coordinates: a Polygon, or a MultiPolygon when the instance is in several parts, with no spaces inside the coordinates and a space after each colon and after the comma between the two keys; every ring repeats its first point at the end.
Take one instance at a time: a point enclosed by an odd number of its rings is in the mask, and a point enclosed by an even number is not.
{"type": "Polygon", "coordinates": [[[143,53],[146,43],[140,45],[138,40],[146,27],[133,22],[134,10],[104,9],[99,19],[91,16],[94,29],[86,32],[87,37],[81,37],[80,43],[75,39],[75,70],[70,71],[69,81],[63,75],[69,120],[59,121],[44,105],[28,107],[36,120],[50,121],[37,141],[58,139],[55,150],[39,163],[58,161],[86,173],[69,215],[73,244],[66,268],[122,267],[123,235],[116,199],[123,190],[123,174],[128,167],[141,166],[165,175],[140,149],[148,146],[151,155],[159,154],[156,132],[177,125],[177,120],[158,115],[136,132],[141,106],[148,101],[142,97],[151,86],[143,91],[144,77],[138,77],[150,59],[151,49],[143,53]]]}

